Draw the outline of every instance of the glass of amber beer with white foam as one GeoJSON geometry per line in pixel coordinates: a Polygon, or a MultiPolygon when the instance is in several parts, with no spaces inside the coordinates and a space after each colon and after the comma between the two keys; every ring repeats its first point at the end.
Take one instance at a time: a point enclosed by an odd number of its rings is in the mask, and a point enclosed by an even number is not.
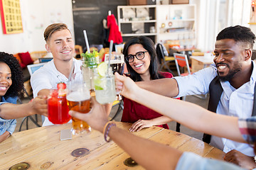
{"type": "MultiPolygon", "coordinates": [[[[70,111],[88,113],[90,111],[90,91],[85,83],[70,83],[68,86],[67,101],[70,111]]],[[[90,126],[85,121],[73,117],[72,120],[71,131],[73,135],[91,131],[90,126]]]]}

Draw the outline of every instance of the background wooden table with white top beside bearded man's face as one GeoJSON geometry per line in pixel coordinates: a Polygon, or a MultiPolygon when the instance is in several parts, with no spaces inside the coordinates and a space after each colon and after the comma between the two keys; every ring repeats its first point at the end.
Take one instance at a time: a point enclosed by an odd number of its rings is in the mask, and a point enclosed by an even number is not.
{"type": "Polygon", "coordinates": [[[191,56],[191,68],[192,72],[197,72],[200,69],[204,69],[210,64],[213,63],[213,58],[214,57],[204,57],[204,56],[191,56]]]}

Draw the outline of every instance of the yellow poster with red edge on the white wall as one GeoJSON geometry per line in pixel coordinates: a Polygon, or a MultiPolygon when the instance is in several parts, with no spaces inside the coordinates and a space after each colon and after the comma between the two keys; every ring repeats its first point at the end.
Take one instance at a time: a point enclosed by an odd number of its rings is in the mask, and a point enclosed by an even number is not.
{"type": "Polygon", "coordinates": [[[0,0],[4,34],[23,33],[20,0],[0,0]]]}

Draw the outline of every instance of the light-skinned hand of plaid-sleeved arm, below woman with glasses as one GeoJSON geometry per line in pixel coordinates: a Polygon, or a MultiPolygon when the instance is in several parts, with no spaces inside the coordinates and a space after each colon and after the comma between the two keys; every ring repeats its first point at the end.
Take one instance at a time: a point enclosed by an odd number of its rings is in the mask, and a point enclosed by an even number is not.
{"type": "Polygon", "coordinates": [[[121,91],[121,95],[132,99],[136,96],[139,86],[132,81],[129,77],[121,76],[117,72],[114,73],[116,90],[121,91]]]}

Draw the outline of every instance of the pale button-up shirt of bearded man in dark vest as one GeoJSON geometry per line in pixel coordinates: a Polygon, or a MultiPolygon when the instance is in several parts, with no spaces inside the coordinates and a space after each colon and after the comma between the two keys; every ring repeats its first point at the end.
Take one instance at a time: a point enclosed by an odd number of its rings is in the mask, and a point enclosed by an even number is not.
{"type": "MultiPolygon", "coordinates": [[[[223,94],[220,97],[216,113],[221,115],[230,115],[239,118],[249,118],[252,116],[253,96],[256,80],[255,62],[252,62],[253,70],[250,81],[235,89],[229,81],[220,81],[223,87],[223,94]]],[[[200,71],[188,75],[187,77],[175,77],[178,82],[179,94],[177,97],[188,96],[193,94],[207,94],[209,91],[210,81],[217,76],[215,64],[211,67],[201,69],[200,71]]],[[[223,149],[223,152],[229,152],[236,149],[248,156],[254,156],[253,149],[250,145],[234,142],[222,137],[212,136],[210,145],[223,149]]]]}

